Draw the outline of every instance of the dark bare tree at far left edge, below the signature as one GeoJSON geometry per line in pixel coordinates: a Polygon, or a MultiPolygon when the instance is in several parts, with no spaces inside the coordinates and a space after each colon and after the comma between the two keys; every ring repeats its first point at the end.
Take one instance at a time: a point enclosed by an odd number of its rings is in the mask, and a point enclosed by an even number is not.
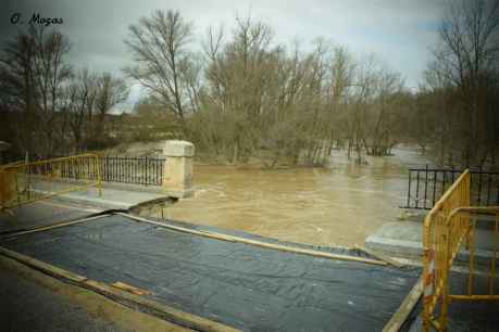
{"type": "Polygon", "coordinates": [[[17,146],[51,154],[58,143],[53,136],[61,87],[71,75],[65,62],[67,39],[58,31],[30,26],[8,41],[0,56],[4,107],[22,118],[16,126],[17,146]]]}

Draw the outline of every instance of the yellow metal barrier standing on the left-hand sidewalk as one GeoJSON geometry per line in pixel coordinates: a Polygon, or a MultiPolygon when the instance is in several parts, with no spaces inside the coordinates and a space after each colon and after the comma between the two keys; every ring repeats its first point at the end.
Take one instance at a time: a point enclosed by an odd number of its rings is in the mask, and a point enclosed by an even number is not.
{"type": "Polygon", "coordinates": [[[66,192],[97,187],[101,165],[95,154],[82,154],[0,167],[0,210],[66,192]]]}

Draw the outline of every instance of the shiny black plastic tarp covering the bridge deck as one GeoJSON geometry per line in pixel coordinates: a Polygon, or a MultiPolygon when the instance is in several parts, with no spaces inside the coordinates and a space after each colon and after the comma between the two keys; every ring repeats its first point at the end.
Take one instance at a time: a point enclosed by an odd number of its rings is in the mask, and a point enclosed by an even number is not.
{"type": "Polygon", "coordinates": [[[226,242],[110,215],[0,245],[245,331],[381,331],[419,270],[226,242]]]}

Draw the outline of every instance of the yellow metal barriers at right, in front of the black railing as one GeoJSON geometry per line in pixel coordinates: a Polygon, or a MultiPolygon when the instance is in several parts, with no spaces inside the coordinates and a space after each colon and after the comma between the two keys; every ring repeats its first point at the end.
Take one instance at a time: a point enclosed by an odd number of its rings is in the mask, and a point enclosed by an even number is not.
{"type": "Polygon", "coordinates": [[[424,309],[423,330],[432,325],[438,331],[447,331],[449,304],[456,299],[482,301],[499,299],[495,295],[496,256],[498,247],[499,207],[470,207],[470,173],[464,171],[435,204],[424,221],[424,309]],[[475,219],[472,214],[495,215],[494,255],[489,269],[488,294],[474,294],[475,269],[475,219]],[[467,295],[449,292],[449,277],[452,263],[461,245],[466,243],[470,253],[470,276],[467,295]],[[437,308],[439,304],[439,307],[437,308]],[[435,317],[435,312],[439,312],[435,317]]]}

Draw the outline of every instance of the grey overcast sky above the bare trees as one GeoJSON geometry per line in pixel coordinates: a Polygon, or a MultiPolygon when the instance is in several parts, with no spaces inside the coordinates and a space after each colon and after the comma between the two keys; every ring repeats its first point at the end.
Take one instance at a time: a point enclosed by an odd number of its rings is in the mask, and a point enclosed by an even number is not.
{"type": "MultiPolygon", "coordinates": [[[[358,55],[376,53],[414,88],[437,41],[445,0],[8,0],[1,7],[0,42],[26,27],[34,13],[61,17],[57,26],[73,44],[72,63],[96,71],[121,74],[130,64],[123,43],[128,25],[155,9],[173,9],[194,23],[198,42],[208,26],[230,29],[236,15],[250,14],[272,26],[276,42],[310,44],[323,37],[358,55]],[[24,25],[11,23],[14,13],[24,25]]],[[[137,93],[134,88],[130,102],[137,93]]]]}

